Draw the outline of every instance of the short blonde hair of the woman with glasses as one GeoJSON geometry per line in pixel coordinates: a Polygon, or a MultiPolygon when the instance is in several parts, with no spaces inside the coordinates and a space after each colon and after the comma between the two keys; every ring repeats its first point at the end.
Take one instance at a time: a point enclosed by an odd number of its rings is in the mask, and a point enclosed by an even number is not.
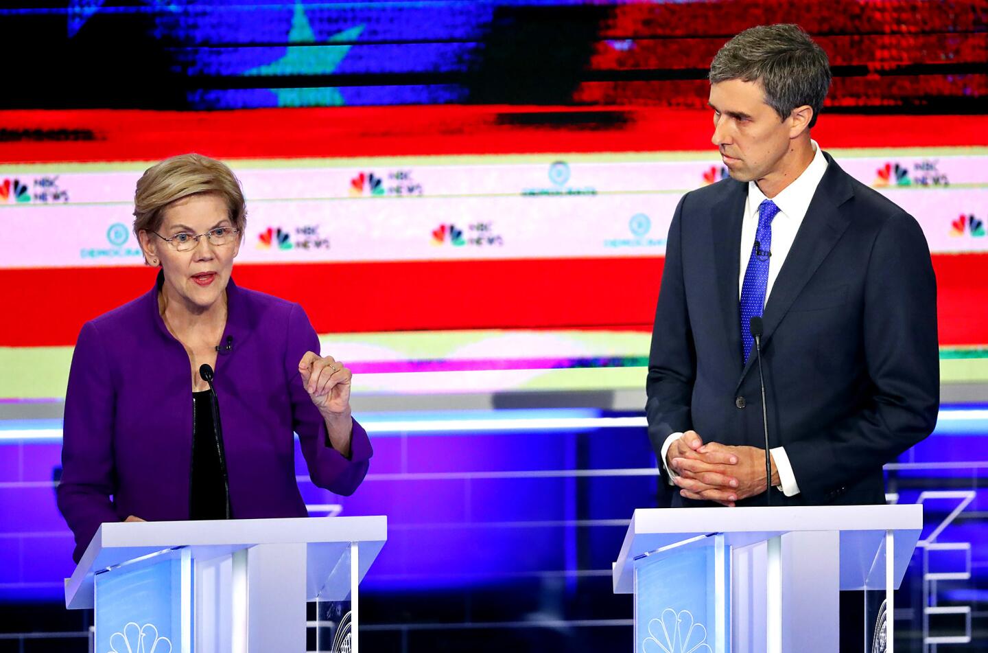
{"type": "Polygon", "coordinates": [[[161,229],[172,202],[198,193],[216,193],[229,209],[230,222],[247,226],[247,205],[240,181],[229,166],[202,154],[179,154],[155,163],[137,180],[133,194],[133,233],[161,229]]]}

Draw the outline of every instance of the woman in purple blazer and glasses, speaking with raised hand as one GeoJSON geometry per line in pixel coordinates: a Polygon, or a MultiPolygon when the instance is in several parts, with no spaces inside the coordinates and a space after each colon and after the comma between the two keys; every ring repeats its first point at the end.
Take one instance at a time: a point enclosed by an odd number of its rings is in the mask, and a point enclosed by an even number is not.
{"type": "Polygon", "coordinates": [[[105,521],[304,516],[292,432],[317,486],[364,480],[350,370],[319,355],[301,307],[230,278],[245,224],[214,159],[175,156],[137,182],[133,230],[157,282],[82,327],[65,395],[57,495],[76,562],[105,521]]]}

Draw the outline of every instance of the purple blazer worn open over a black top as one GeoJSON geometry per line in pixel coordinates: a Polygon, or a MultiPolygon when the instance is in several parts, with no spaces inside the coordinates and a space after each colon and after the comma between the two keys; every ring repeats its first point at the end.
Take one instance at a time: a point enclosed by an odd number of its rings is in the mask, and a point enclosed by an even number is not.
{"type": "MultiPolygon", "coordinates": [[[[158,314],[158,283],[146,295],[86,323],[72,355],[65,393],[58,508],[75,534],[76,562],[104,521],[133,514],[148,521],[189,518],[192,368],[158,314]]],[[[306,516],[294,469],[294,438],[312,482],[350,495],[372,454],[354,421],[351,459],[328,445],[326,425],[298,374],[319,340],[297,304],[226,288],[222,342],[213,385],[232,515],[306,516]]]]}

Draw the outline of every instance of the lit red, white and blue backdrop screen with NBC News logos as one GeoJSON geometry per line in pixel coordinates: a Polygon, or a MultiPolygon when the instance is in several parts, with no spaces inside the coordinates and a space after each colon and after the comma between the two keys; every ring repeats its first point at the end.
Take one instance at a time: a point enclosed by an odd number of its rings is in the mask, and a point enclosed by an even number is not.
{"type": "MultiPolygon", "coordinates": [[[[153,283],[130,232],[151,163],[199,151],[233,167],[248,202],[237,283],[299,302],[357,374],[355,397],[640,392],[673,210],[726,174],[706,68],[769,22],[828,51],[814,139],[919,221],[943,380],[985,383],[986,0],[5,3],[4,631],[82,631],[56,603],[71,569],[53,501],[60,402],[82,324],[153,283]],[[53,607],[17,611],[28,602],[53,607]]],[[[977,650],[988,605],[988,429],[960,408],[887,468],[893,501],[928,507],[930,546],[897,599],[911,650],[938,633],[977,650]],[[953,611],[931,626],[930,606],[953,611]]],[[[378,426],[351,498],[314,488],[299,462],[313,514],[390,515],[367,585],[375,650],[630,643],[609,574],[630,512],[663,497],[644,429],[513,423],[378,426]]]]}

